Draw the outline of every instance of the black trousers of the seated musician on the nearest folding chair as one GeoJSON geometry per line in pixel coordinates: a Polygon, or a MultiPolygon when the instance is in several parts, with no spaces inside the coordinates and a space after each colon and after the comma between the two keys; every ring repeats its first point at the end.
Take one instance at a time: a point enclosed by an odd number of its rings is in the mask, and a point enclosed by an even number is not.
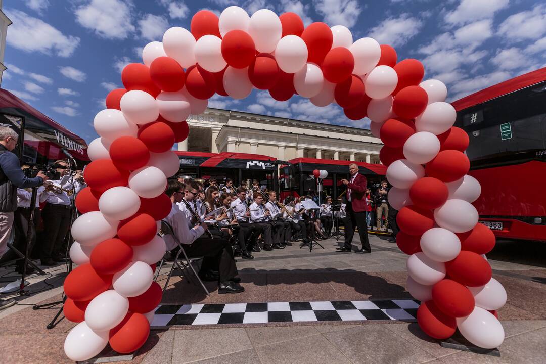
{"type": "Polygon", "coordinates": [[[204,256],[201,272],[218,270],[220,282],[226,282],[239,274],[235,265],[232,247],[228,240],[219,238],[199,237],[192,244],[183,245],[188,258],[204,256]]]}

